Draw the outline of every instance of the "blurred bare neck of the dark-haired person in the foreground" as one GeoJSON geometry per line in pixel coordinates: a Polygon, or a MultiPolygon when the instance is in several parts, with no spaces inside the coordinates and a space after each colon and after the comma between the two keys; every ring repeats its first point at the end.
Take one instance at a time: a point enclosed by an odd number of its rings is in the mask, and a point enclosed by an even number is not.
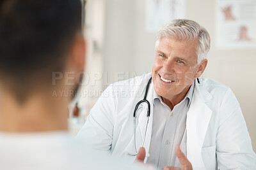
{"type": "Polygon", "coordinates": [[[33,94],[22,104],[8,92],[0,97],[0,131],[67,131],[67,97],[33,94]]]}

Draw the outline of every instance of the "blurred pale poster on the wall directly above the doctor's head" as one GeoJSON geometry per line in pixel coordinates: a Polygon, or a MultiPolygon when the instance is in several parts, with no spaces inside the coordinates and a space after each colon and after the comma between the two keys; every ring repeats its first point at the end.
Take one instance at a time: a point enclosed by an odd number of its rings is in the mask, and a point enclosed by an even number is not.
{"type": "Polygon", "coordinates": [[[146,0],[146,31],[157,32],[175,18],[185,18],[186,0],[146,0]]]}

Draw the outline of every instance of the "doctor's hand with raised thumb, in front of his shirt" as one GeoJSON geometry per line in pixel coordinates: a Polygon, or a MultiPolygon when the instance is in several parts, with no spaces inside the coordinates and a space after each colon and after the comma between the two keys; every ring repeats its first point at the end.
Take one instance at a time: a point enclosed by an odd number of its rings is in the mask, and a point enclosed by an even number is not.
{"type": "Polygon", "coordinates": [[[175,153],[180,161],[181,169],[179,167],[166,166],[164,170],[193,170],[193,167],[189,160],[186,158],[183,152],[180,150],[180,145],[175,146],[175,153]]]}

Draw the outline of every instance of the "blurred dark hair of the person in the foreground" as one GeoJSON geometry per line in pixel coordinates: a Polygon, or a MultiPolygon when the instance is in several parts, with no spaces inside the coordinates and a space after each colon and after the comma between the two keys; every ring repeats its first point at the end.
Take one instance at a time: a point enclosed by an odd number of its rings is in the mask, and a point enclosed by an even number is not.
{"type": "Polygon", "coordinates": [[[0,83],[19,101],[63,71],[81,9],[80,0],[0,0],[0,83]]]}

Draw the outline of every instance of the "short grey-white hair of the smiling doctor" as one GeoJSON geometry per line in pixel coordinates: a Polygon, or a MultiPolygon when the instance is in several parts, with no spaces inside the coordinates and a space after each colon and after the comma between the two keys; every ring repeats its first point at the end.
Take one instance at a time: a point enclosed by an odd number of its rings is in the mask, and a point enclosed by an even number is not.
{"type": "Polygon", "coordinates": [[[175,19],[160,29],[156,34],[156,47],[164,37],[172,37],[179,41],[198,39],[197,64],[207,58],[210,50],[210,35],[207,30],[197,22],[187,19],[175,19]]]}

